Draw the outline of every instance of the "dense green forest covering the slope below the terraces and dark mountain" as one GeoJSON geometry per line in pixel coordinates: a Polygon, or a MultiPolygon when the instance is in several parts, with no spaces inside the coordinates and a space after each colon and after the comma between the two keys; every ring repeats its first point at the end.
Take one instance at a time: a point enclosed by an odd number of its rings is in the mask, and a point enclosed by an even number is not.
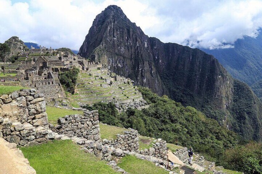
{"type": "Polygon", "coordinates": [[[119,127],[132,127],[143,136],[163,138],[169,143],[193,147],[197,152],[218,161],[225,149],[238,143],[238,136],[219,126],[218,122],[192,107],[183,107],[167,96],[159,97],[140,87],[150,107],[139,111],[129,108],[118,113],[113,103],[95,103],[87,109],[98,109],[99,120],[119,127]]]}

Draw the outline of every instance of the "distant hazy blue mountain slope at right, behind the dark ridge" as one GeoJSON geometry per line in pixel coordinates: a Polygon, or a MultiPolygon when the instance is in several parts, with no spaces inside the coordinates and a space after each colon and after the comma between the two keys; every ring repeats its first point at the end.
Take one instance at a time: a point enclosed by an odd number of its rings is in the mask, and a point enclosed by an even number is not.
{"type": "Polygon", "coordinates": [[[245,36],[238,39],[234,48],[202,49],[213,55],[236,79],[247,83],[262,99],[262,34],[256,38],[245,36]]]}

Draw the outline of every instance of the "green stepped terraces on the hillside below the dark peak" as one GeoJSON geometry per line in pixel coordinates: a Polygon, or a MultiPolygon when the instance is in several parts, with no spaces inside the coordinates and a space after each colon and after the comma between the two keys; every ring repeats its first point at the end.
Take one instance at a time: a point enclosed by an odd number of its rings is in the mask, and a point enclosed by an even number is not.
{"type": "Polygon", "coordinates": [[[80,73],[73,99],[85,104],[113,100],[125,104],[145,103],[132,80],[101,68],[80,73]]]}

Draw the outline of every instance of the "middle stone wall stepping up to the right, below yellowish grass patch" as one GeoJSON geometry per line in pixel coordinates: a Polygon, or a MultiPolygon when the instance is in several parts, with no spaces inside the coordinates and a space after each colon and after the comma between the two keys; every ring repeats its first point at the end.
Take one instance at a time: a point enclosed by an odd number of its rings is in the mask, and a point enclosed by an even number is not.
{"type": "Polygon", "coordinates": [[[117,134],[116,140],[103,140],[103,145],[108,145],[113,148],[120,148],[123,151],[134,151],[138,152],[139,144],[138,144],[138,133],[137,130],[129,128],[130,131],[125,131],[124,135],[117,134]]]}

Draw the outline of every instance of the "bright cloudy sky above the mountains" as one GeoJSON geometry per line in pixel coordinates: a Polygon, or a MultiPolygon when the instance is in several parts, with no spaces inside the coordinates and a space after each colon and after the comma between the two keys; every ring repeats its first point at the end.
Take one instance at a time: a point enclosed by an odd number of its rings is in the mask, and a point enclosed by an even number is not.
{"type": "Polygon", "coordinates": [[[120,6],[151,37],[190,47],[233,47],[262,27],[262,0],[0,0],[0,42],[78,50],[97,14],[120,6]]]}

